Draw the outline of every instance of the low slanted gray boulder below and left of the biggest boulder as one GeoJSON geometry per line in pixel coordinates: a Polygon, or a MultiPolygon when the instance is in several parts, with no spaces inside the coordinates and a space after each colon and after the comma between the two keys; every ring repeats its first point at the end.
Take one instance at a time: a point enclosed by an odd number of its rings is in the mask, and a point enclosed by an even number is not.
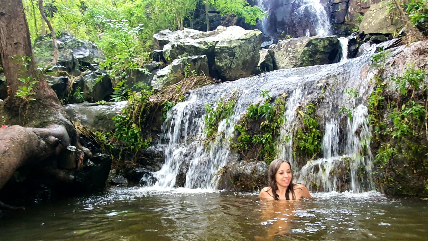
{"type": "Polygon", "coordinates": [[[207,74],[208,59],[206,55],[189,56],[181,59],[175,59],[171,64],[158,70],[153,76],[151,85],[160,90],[168,85],[173,85],[184,79],[187,74],[207,74]]]}

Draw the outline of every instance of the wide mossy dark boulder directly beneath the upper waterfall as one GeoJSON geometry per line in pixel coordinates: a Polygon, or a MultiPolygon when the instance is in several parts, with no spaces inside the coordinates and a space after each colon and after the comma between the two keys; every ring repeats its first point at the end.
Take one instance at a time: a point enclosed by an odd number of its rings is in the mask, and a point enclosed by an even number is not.
{"type": "Polygon", "coordinates": [[[300,37],[270,45],[274,69],[326,65],[336,62],[341,49],[336,36],[300,37]]]}

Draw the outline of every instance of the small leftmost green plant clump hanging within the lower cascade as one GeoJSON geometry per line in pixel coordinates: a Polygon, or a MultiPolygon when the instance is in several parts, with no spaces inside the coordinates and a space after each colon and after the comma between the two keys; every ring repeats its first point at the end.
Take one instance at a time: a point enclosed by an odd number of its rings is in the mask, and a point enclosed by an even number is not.
{"type": "Polygon", "coordinates": [[[229,117],[235,114],[233,110],[236,106],[236,95],[231,100],[225,101],[224,98],[217,100],[216,106],[214,104],[205,105],[207,115],[205,115],[205,135],[210,138],[217,134],[218,124],[220,120],[226,119],[229,122],[229,117]]]}

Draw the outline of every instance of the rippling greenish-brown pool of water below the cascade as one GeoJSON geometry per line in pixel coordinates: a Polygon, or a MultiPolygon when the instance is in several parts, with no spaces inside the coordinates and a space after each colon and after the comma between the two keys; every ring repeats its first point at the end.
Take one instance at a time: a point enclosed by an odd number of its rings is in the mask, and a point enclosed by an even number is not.
{"type": "Polygon", "coordinates": [[[376,192],[260,201],[256,193],[116,188],[7,212],[9,240],[427,240],[428,202],[376,192]],[[285,237],[285,238],[284,238],[285,237]]]}

